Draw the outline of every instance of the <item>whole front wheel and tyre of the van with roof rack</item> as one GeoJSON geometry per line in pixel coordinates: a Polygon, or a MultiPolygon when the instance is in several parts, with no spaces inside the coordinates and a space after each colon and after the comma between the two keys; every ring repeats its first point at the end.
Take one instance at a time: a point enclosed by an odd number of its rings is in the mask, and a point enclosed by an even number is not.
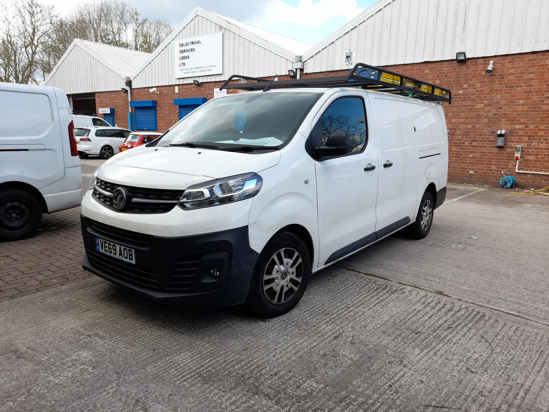
{"type": "Polygon", "coordinates": [[[283,315],[298,304],[310,274],[305,242],[293,233],[279,232],[259,255],[245,305],[265,318],[283,315]]]}

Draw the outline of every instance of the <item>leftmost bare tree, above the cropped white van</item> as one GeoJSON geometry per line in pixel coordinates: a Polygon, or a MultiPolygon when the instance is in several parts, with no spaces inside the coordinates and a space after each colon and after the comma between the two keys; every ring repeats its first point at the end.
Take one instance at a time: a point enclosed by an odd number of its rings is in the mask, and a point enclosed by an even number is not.
{"type": "Polygon", "coordinates": [[[51,69],[48,50],[57,13],[37,0],[14,3],[13,9],[5,9],[0,23],[0,80],[39,83],[51,69]]]}

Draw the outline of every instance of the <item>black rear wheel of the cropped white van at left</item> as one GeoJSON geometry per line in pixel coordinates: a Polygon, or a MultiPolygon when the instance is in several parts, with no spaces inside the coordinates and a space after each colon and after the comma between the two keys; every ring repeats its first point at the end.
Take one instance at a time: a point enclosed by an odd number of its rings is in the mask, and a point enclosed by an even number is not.
{"type": "Polygon", "coordinates": [[[32,236],[41,220],[42,207],[32,194],[19,189],[0,192],[0,242],[32,236]]]}

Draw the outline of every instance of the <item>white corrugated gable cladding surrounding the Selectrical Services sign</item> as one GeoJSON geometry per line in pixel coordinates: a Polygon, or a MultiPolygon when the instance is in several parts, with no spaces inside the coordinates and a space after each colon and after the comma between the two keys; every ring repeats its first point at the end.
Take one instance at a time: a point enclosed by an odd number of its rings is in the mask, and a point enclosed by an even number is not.
{"type": "MultiPolygon", "coordinates": [[[[192,83],[194,79],[200,82],[221,81],[233,74],[245,76],[275,76],[287,74],[292,68],[293,60],[288,59],[283,53],[261,46],[250,40],[248,36],[240,36],[235,30],[220,25],[200,14],[196,14],[174,37],[170,40],[184,40],[190,37],[223,33],[223,73],[210,76],[188,77],[176,79],[175,77],[175,53],[172,41],[165,47],[132,79],[132,87],[153,87],[165,85],[177,85],[192,83]]],[[[156,53],[156,51],[155,51],[156,53]]]]}

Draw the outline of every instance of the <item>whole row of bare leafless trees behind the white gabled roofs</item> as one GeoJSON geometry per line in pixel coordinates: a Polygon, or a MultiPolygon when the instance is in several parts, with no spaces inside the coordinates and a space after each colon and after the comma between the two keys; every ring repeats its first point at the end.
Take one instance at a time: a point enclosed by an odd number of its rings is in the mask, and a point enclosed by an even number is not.
{"type": "Polygon", "coordinates": [[[39,83],[75,38],[152,52],[173,30],[124,0],[90,0],[66,18],[40,0],[12,0],[0,17],[0,81],[39,83]]]}

